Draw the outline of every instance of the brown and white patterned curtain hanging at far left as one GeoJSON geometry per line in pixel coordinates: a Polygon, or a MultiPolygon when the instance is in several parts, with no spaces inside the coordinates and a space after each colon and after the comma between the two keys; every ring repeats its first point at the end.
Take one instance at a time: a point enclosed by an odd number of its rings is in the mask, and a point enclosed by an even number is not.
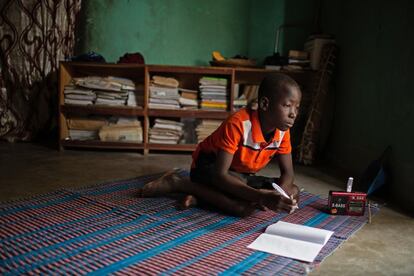
{"type": "Polygon", "coordinates": [[[32,140],[56,128],[59,60],[73,55],[81,0],[0,3],[0,138],[32,140]]]}

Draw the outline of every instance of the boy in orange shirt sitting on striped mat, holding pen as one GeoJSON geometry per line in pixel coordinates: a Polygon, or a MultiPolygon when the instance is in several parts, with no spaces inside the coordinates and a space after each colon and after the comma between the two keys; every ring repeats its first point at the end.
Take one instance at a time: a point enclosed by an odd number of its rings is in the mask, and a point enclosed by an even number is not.
{"type": "MultiPolygon", "coordinates": [[[[298,84],[283,74],[268,75],[260,84],[258,110],[241,109],[202,141],[193,153],[190,177],[169,171],[147,183],[142,197],[183,193],[183,207],[197,200],[236,216],[256,208],[293,212],[299,189],[293,184],[290,132],[301,101],[298,84]],[[256,176],[277,158],[279,178],[256,176]],[[289,197],[273,189],[277,183],[289,197]]],[[[283,191],[282,191],[283,192],[283,191]]]]}

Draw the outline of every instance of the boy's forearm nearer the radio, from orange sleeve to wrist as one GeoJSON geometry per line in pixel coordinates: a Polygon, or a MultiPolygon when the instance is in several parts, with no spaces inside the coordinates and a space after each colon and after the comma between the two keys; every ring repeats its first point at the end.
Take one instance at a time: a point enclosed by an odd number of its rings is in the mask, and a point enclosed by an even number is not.
{"type": "Polygon", "coordinates": [[[279,186],[281,186],[289,195],[292,195],[296,201],[299,200],[299,189],[293,184],[294,172],[292,154],[279,154],[277,160],[280,168],[279,186]]]}

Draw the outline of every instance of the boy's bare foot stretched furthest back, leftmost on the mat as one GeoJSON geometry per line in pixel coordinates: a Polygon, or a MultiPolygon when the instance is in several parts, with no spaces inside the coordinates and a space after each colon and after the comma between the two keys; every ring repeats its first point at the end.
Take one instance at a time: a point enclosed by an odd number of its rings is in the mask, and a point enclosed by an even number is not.
{"type": "Polygon", "coordinates": [[[160,178],[148,182],[138,191],[139,197],[155,197],[177,191],[177,186],[183,177],[179,175],[179,169],[166,172],[160,178]]]}

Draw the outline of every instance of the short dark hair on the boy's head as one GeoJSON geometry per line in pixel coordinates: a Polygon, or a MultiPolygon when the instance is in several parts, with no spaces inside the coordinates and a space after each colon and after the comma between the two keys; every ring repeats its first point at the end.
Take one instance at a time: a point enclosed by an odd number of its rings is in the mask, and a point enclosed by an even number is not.
{"type": "Polygon", "coordinates": [[[290,86],[297,87],[300,90],[298,83],[288,75],[281,73],[266,75],[260,83],[258,100],[263,97],[273,99],[274,96],[278,95],[284,88],[290,86]]]}

